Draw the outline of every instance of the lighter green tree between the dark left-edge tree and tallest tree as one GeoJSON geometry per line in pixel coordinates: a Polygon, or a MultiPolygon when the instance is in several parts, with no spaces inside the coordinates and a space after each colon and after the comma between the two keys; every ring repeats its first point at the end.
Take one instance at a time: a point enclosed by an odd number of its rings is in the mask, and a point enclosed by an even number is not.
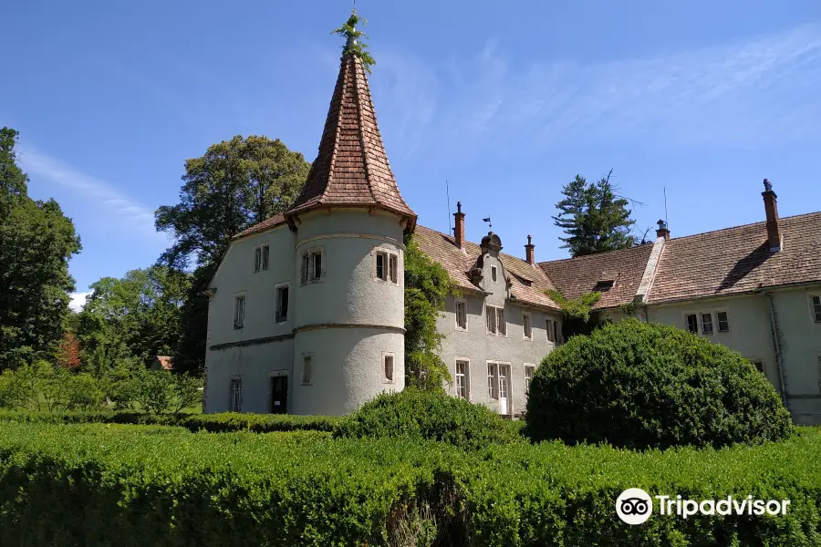
{"type": "Polygon", "coordinates": [[[91,284],[92,293],[78,315],[86,369],[103,376],[123,362],[130,368],[132,357],[145,365],[153,356],[174,356],[190,286],[191,274],[164,266],[91,284]]]}

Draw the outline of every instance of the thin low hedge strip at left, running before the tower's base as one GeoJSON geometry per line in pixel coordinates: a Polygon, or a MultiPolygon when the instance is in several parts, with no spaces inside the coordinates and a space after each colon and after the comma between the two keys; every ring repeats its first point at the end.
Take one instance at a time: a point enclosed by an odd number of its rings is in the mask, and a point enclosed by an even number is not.
{"type": "Polygon", "coordinates": [[[224,433],[250,431],[270,433],[274,431],[333,431],[341,418],[333,416],[295,416],[293,414],[145,414],[141,412],[55,412],[27,413],[7,412],[0,420],[51,424],[132,424],[178,426],[193,432],[224,433]]]}

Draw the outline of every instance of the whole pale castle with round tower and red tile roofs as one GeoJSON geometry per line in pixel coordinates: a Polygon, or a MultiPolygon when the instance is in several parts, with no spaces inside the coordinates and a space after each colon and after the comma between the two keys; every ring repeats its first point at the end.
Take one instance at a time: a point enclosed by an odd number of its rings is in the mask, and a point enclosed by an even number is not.
{"type": "Polygon", "coordinates": [[[438,320],[454,397],[515,416],[562,343],[547,295],[598,291],[602,321],[635,315],[710,336],[753,361],[798,423],[821,423],[821,213],[549,263],[417,225],[390,170],[365,67],[346,49],[307,183],[285,212],[237,234],[208,289],[203,410],[341,415],[404,388],[404,244],[451,274],[438,320]]]}

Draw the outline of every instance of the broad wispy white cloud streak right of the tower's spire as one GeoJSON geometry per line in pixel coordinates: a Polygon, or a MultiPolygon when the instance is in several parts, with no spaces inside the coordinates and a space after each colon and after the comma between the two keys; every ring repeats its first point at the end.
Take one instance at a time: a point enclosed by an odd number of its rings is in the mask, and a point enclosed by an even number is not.
{"type": "Polygon", "coordinates": [[[479,154],[504,143],[535,151],[591,141],[758,147],[821,137],[821,26],[599,64],[514,65],[503,46],[489,41],[473,58],[423,73],[419,81],[437,90],[428,98],[437,116],[421,137],[431,150],[479,154]]]}

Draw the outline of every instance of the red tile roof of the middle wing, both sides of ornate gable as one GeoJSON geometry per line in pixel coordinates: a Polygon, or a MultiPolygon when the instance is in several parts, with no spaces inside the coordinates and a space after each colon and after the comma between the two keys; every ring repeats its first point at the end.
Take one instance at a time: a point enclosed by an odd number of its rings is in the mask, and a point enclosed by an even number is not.
{"type": "MultiPolygon", "coordinates": [[[[482,290],[473,284],[468,275],[476,259],[482,254],[479,245],[465,242],[465,249],[462,252],[452,235],[436,232],[424,226],[417,226],[413,237],[421,252],[430,256],[434,262],[442,264],[462,289],[482,290]]],[[[545,272],[510,254],[499,253],[499,258],[504,266],[505,274],[511,278],[511,293],[516,300],[526,304],[558,309],[558,305],[545,294],[546,289],[554,288],[545,272]]]]}

